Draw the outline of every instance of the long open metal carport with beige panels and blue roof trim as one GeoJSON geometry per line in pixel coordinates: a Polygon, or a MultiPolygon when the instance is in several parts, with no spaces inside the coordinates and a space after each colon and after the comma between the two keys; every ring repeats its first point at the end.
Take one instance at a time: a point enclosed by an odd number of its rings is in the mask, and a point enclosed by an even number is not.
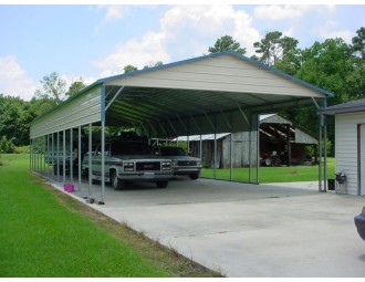
{"type": "MultiPolygon", "coordinates": [[[[65,168],[70,161],[70,181],[74,181],[76,165],[81,187],[81,152],[85,144],[82,128],[88,130],[87,150],[91,153],[93,126],[98,126],[100,130],[102,164],[106,126],[135,128],[149,138],[250,132],[251,146],[259,148],[260,114],[307,105],[324,108],[328,96],[333,94],[230,51],[101,79],[33,121],[30,168],[65,182],[66,171],[60,171],[60,167],[65,168]],[[77,154],[76,164],[73,164],[73,154],[77,154]],[[50,160],[49,156],[62,156],[62,160],[59,157],[50,160]],[[50,165],[56,171],[50,170],[50,165]]],[[[319,125],[320,144],[326,138],[324,118],[322,116],[319,125]]],[[[322,179],[326,179],[326,154],[322,154],[321,148],[320,191],[323,190],[322,179]]],[[[254,152],[250,159],[257,160],[259,149],[254,152]]],[[[88,164],[92,167],[91,154],[88,164]]],[[[254,164],[255,176],[250,165],[248,182],[259,184],[259,161],[254,164]]],[[[232,165],[230,168],[232,170],[232,165]]],[[[102,175],[104,173],[103,165],[102,175]]],[[[88,179],[91,196],[92,180],[88,179]]],[[[101,194],[101,203],[104,203],[104,181],[101,194]]]]}

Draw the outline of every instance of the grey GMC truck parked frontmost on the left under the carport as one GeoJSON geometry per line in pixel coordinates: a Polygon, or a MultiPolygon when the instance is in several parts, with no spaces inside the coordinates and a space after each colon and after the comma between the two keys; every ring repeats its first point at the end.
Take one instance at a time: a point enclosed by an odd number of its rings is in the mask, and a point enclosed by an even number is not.
{"type": "MultiPolygon", "coordinates": [[[[88,154],[83,159],[83,175],[88,175],[88,154]]],[[[128,182],[155,182],[166,188],[174,175],[171,160],[156,157],[145,137],[132,136],[106,142],[104,156],[104,181],[114,189],[123,189],[128,182]]],[[[92,181],[102,181],[101,146],[92,152],[92,181]]]]}

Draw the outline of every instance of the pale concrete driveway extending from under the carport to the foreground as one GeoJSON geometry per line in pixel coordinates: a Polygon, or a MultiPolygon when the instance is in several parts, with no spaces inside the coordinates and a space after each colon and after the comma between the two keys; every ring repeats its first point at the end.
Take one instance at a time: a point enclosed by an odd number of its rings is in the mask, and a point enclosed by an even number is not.
{"type": "Polygon", "coordinates": [[[365,198],[320,194],[316,182],[182,178],[166,189],[107,187],[105,202],[91,207],[228,276],[365,276],[365,241],[353,221],[365,198]]]}

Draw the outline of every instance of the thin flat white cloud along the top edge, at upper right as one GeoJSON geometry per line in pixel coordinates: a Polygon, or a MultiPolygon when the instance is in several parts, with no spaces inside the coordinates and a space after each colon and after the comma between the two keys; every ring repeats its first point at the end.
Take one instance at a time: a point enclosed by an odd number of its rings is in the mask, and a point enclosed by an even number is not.
{"type": "Polygon", "coordinates": [[[316,6],[316,4],[271,4],[258,6],[254,8],[253,15],[260,20],[282,21],[289,19],[299,19],[309,12],[333,12],[334,6],[316,6]]]}

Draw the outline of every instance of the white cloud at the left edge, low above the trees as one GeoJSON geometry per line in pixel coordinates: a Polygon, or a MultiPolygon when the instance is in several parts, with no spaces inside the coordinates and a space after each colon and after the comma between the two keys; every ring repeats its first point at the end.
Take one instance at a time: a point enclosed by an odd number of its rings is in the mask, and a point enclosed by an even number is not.
{"type": "Polygon", "coordinates": [[[40,87],[33,79],[20,66],[13,55],[0,58],[0,93],[20,96],[30,101],[34,91],[40,87]]]}

